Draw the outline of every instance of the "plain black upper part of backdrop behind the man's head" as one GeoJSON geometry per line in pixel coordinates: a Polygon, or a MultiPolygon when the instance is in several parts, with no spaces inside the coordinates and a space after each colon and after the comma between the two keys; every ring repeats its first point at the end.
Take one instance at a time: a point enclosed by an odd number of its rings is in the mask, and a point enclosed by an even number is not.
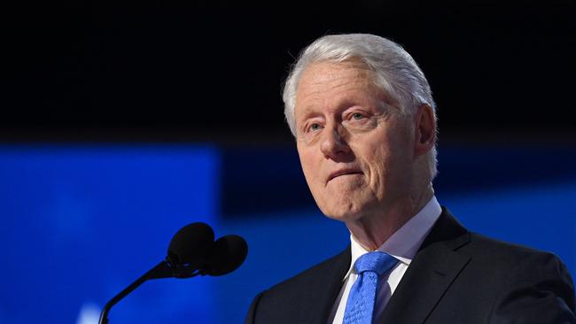
{"type": "MultiPolygon", "coordinates": [[[[389,37],[440,134],[575,128],[573,1],[60,2],[4,12],[1,139],[290,140],[281,81],[316,37],[389,37]]],[[[572,133],[573,134],[573,133],[572,133]]]]}

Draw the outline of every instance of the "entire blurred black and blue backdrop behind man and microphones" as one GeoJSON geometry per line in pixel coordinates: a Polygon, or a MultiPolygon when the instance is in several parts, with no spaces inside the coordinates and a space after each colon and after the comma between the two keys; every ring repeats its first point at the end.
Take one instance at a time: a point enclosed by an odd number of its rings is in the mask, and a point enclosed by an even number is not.
{"type": "Polygon", "coordinates": [[[242,322],[346,248],[316,209],[281,84],[316,37],[399,42],[432,85],[435,189],[465,226],[576,274],[572,1],[27,4],[1,15],[1,323],[96,323],[193,221],[250,250],[224,277],[146,282],[111,323],[242,322]],[[296,239],[294,239],[296,237],[296,239]],[[309,246],[314,246],[310,251],[309,246]]]}

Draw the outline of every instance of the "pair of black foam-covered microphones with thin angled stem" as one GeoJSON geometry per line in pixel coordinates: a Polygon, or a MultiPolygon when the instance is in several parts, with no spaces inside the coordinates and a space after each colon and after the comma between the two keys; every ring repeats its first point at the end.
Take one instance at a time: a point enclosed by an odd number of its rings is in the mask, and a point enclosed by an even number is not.
{"type": "Polygon", "coordinates": [[[214,242],[214,231],[209,225],[201,222],[186,225],[172,237],[167,258],[110,299],[98,323],[107,324],[113,305],[147,280],[230,274],[242,265],[247,254],[248,245],[238,235],[222,236],[214,242]]]}

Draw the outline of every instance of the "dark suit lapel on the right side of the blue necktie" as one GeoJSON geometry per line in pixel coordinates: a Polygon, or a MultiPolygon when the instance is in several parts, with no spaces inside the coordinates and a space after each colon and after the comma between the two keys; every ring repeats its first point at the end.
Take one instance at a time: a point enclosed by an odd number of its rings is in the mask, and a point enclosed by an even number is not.
{"type": "Polygon", "coordinates": [[[470,261],[457,251],[470,232],[446,210],[424,240],[382,315],[383,323],[421,324],[470,261]]]}

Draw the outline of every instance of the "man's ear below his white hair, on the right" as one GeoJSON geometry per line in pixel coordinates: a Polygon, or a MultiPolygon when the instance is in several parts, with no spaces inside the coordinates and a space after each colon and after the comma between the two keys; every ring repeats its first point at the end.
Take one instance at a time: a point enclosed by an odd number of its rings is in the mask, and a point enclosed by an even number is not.
{"type": "Polygon", "coordinates": [[[418,107],[414,123],[414,154],[418,157],[432,150],[436,143],[436,118],[429,104],[418,107]]]}

